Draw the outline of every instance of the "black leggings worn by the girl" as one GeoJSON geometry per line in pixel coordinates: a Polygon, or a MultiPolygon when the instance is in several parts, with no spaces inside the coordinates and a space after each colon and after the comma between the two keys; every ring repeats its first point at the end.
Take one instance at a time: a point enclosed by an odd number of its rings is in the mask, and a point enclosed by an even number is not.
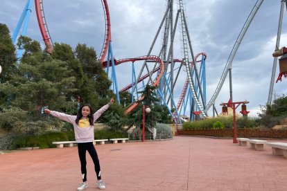
{"type": "Polygon", "coordinates": [[[92,157],[95,165],[96,178],[101,180],[101,167],[100,161],[98,161],[98,154],[96,154],[96,149],[92,142],[89,143],[78,143],[78,154],[80,157],[80,170],[82,172],[82,181],[87,181],[87,161],[86,161],[86,151],[92,157]]]}

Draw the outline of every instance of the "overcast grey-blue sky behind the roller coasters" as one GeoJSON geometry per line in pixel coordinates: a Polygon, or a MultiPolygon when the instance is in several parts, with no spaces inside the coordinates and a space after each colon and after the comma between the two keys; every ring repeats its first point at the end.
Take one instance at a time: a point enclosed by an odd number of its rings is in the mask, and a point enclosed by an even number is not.
{"type": "MultiPolygon", "coordinates": [[[[177,1],[174,2],[176,13],[177,1]]],[[[114,57],[122,59],[146,55],[164,16],[166,1],[108,0],[107,3],[112,22],[114,57]]],[[[207,53],[207,102],[214,94],[236,38],[255,3],[256,0],[186,1],[185,14],[189,23],[193,52],[195,55],[200,52],[207,53]]],[[[251,111],[250,116],[257,116],[259,106],[265,105],[268,100],[280,3],[279,0],[263,1],[232,64],[234,102],[250,101],[250,104],[247,104],[247,110],[251,111]]],[[[1,0],[0,23],[6,24],[11,34],[15,30],[25,4],[26,0],[1,0]]],[[[44,13],[53,42],[67,43],[73,48],[78,43],[87,44],[94,47],[97,54],[101,53],[105,20],[100,0],[44,0],[44,13]]],[[[287,46],[286,28],[286,8],[284,8],[280,47],[287,46]]],[[[42,43],[34,4],[26,35],[42,43]]],[[[180,35],[180,31],[177,30],[174,55],[178,58],[183,57],[180,35]]],[[[157,39],[156,47],[161,44],[162,34],[157,39]]],[[[155,49],[152,55],[158,55],[158,53],[159,51],[155,49]]],[[[120,89],[131,83],[130,67],[131,64],[116,67],[120,89]]],[[[278,74],[279,66],[277,66],[275,81],[278,74]]],[[[186,75],[182,75],[177,82],[175,102],[178,101],[185,78],[186,75]]],[[[286,78],[283,78],[282,82],[275,83],[273,93],[286,94],[286,84],[286,78]]],[[[227,79],[216,100],[218,111],[221,111],[220,102],[228,100],[229,80],[227,79]]]]}

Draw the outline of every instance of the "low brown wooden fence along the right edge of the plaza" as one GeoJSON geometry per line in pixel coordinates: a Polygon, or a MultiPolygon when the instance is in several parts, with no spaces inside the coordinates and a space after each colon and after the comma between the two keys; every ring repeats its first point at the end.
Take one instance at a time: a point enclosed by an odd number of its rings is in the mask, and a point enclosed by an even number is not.
{"type": "MultiPolygon", "coordinates": [[[[189,136],[214,136],[222,138],[232,138],[234,129],[191,129],[178,130],[179,135],[189,136]]],[[[287,138],[287,130],[277,129],[236,129],[237,137],[244,138],[287,138]]]]}

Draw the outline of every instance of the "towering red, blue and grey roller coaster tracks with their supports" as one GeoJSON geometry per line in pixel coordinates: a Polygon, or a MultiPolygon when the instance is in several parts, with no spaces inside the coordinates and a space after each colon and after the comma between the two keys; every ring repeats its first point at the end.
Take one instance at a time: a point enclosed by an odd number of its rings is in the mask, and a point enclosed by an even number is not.
{"type": "MultiPolygon", "coordinates": [[[[46,19],[44,16],[44,6],[43,0],[34,0],[35,1],[35,9],[37,14],[37,21],[40,26],[40,31],[42,33],[42,38],[44,40],[44,44],[46,46],[47,53],[53,53],[53,42],[51,36],[49,34],[49,30],[46,24],[46,19]]],[[[182,121],[182,116],[186,116],[186,111],[189,111],[190,118],[193,120],[195,118],[195,114],[200,114],[202,118],[207,117],[207,111],[213,108],[213,116],[215,116],[216,108],[215,101],[220,93],[221,88],[223,87],[223,83],[227,78],[227,73],[229,73],[229,90],[230,90],[230,100],[232,102],[232,61],[236,55],[236,52],[243,40],[243,37],[247,31],[247,28],[250,26],[252,19],[256,15],[257,10],[259,10],[261,3],[263,0],[256,1],[252,12],[250,13],[247,21],[245,22],[241,33],[238,35],[236,39],[236,43],[232,48],[232,52],[229,55],[227,60],[227,64],[225,65],[225,69],[223,70],[223,74],[221,75],[218,86],[216,87],[216,91],[214,92],[211,100],[206,101],[206,75],[205,75],[205,60],[207,59],[207,55],[205,53],[198,53],[197,55],[193,54],[193,48],[191,44],[191,37],[189,35],[189,28],[186,22],[185,10],[184,10],[184,2],[183,0],[178,1],[178,9],[175,16],[173,18],[173,0],[167,0],[166,11],[164,12],[164,16],[162,18],[161,24],[157,30],[155,38],[150,46],[148,53],[141,57],[133,57],[126,58],[122,60],[116,60],[114,58],[114,54],[112,51],[112,28],[111,28],[111,19],[110,19],[110,11],[107,5],[107,0],[101,0],[103,4],[103,10],[105,15],[105,39],[103,42],[103,48],[101,54],[99,56],[99,60],[103,64],[103,67],[107,70],[107,75],[110,74],[110,78],[112,80],[112,88],[114,93],[116,94],[116,99],[118,103],[120,103],[119,92],[120,91],[129,91],[132,93],[132,104],[126,109],[125,113],[129,113],[137,107],[139,102],[143,100],[144,95],[138,95],[137,91],[139,89],[144,88],[145,84],[151,84],[154,87],[157,87],[157,96],[161,98],[162,104],[165,104],[168,107],[168,111],[173,117],[175,122],[182,121]],[[173,56],[174,49],[174,39],[175,32],[177,31],[177,25],[180,26],[181,33],[181,48],[184,57],[182,59],[177,59],[173,56]],[[157,55],[150,55],[155,46],[155,42],[159,36],[160,31],[163,34],[162,46],[157,55]],[[105,58],[107,59],[105,60],[105,58]],[[199,59],[199,60],[198,60],[199,59]],[[135,72],[134,62],[142,61],[140,71],[135,72]],[[119,91],[116,79],[116,66],[119,64],[123,64],[125,62],[131,62],[132,64],[132,82],[125,86],[123,89],[119,91]],[[178,63],[179,66],[175,68],[175,64],[178,63]],[[200,63],[200,69],[198,70],[198,66],[200,63]],[[153,64],[153,65],[151,65],[153,64]],[[150,67],[152,66],[152,67],[150,67]],[[184,69],[182,69],[184,66],[184,69]],[[110,73],[110,67],[112,67],[112,71],[110,73]],[[143,74],[143,70],[146,69],[147,73],[143,74]],[[183,71],[183,72],[182,72],[183,71]],[[184,84],[177,82],[179,76],[182,76],[183,73],[186,75],[186,81],[184,84]],[[139,87],[140,83],[142,84],[139,87]],[[174,90],[175,86],[183,85],[182,93],[180,98],[175,104],[175,96],[174,90]],[[133,96],[137,98],[137,100],[133,100],[133,96]],[[173,112],[172,112],[173,111],[173,112]],[[182,112],[183,111],[183,112],[182,112]]],[[[285,0],[281,1],[281,13],[279,19],[279,28],[277,33],[277,44],[276,50],[279,47],[279,37],[281,35],[281,19],[282,13],[284,9],[285,0]]],[[[31,7],[33,4],[33,0],[28,0],[24,10],[21,14],[19,22],[17,24],[17,28],[12,35],[12,42],[15,44],[17,35],[19,34],[19,30],[21,25],[24,22],[24,28],[22,30],[21,35],[26,35],[28,19],[31,13],[31,7]]],[[[21,57],[21,49],[17,53],[18,57],[21,57]]],[[[276,69],[276,62],[273,63],[273,71],[276,69]]],[[[272,78],[274,79],[272,71],[272,78]]],[[[270,91],[273,89],[274,80],[270,84],[270,91]]],[[[272,93],[272,91],[271,91],[272,93]]],[[[268,98],[269,103],[269,98],[268,98]]]]}

